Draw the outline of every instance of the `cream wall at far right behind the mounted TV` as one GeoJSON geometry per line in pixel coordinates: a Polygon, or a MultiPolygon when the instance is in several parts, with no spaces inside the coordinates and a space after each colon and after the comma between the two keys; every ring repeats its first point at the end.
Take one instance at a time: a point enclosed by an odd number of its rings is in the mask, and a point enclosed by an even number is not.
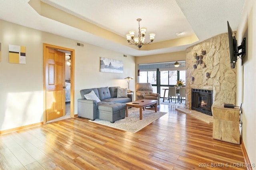
{"type": "MultiPolygon", "coordinates": [[[[256,1],[245,1],[244,10],[238,25],[238,45],[246,37],[244,65],[238,59],[237,67],[237,106],[242,103],[242,139],[251,163],[256,165],[256,1]]],[[[253,169],[256,169],[254,167],[253,169]]]]}

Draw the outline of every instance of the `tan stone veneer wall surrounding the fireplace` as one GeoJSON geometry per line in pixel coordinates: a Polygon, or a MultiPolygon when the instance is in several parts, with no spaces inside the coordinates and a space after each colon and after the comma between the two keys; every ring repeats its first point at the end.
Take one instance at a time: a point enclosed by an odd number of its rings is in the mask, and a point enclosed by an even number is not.
{"type": "Polygon", "coordinates": [[[186,107],[191,108],[191,89],[213,90],[213,105],[236,104],[236,68],[230,68],[228,33],[216,35],[186,49],[186,107]],[[202,68],[196,62],[194,53],[200,55],[206,50],[202,68]],[[206,77],[206,72],[210,77],[206,77]],[[191,80],[194,76],[194,81],[191,80]]]}

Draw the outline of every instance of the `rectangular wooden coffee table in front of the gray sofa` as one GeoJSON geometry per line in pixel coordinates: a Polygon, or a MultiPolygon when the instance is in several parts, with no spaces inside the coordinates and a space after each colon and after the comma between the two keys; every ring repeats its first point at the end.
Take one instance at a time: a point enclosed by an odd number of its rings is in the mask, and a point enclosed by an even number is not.
{"type": "Polygon", "coordinates": [[[147,100],[147,99],[143,99],[143,100],[136,100],[134,102],[129,102],[126,103],[126,117],[128,117],[128,107],[136,107],[136,108],[140,108],[140,120],[142,120],[142,108],[143,110],[145,110],[146,106],[155,106],[155,112],[157,109],[157,100],[147,100]],[[144,102],[142,102],[144,101],[144,102]],[[136,104],[138,103],[138,104],[136,104]]]}

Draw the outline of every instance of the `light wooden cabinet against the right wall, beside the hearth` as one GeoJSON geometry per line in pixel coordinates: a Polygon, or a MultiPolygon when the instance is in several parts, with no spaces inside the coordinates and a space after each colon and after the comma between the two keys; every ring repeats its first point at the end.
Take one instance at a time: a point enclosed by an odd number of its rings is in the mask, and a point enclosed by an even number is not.
{"type": "Polygon", "coordinates": [[[220,141],[240,144],[238,108],[225,108],[224,106],[213,106],[213,131],[212,138],[220,141]]]}

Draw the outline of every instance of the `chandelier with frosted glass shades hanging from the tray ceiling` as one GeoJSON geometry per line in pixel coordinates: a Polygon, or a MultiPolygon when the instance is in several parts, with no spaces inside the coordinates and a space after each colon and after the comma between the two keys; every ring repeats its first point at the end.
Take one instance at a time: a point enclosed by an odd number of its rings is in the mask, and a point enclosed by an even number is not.
{"type": "Polygon", "coordinates": [[[149,36],[150,36],[150,42],[149,43],[145,43],[145,37],[144,35],[146,34],[146,31],[147,29],[146,28],[140,28],[140,21],[141,19],[138,18],[137,19],[138,21],[138,24],[139,24],[139,33],[138,33],[138,37],[134,37],[135,36],[135,31],[129,31],[128,34],[126,34],[126,39],[128,41],[128,43],[130,45],[136,45],[139,49],[142,47],[142,45],[145,45],[145,44],[150,44],[154,41],[155,39],[155,33],[150,33],[149,36]]]}

